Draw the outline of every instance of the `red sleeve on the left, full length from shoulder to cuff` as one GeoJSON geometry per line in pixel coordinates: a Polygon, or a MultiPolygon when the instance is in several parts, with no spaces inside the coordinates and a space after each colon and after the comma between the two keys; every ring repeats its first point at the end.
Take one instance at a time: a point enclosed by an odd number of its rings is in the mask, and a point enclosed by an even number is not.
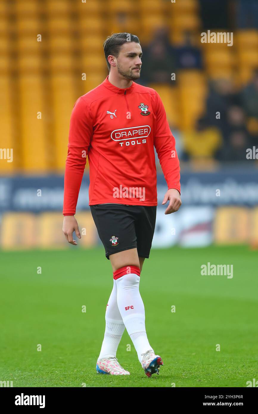
{"type": "Polygon", "coordinates": [[[70,119],[64,177],[64,215],[75,214],[92,134],[93,120],[90,108],[84,98],[80,97],[75,102],[70,119]]]}

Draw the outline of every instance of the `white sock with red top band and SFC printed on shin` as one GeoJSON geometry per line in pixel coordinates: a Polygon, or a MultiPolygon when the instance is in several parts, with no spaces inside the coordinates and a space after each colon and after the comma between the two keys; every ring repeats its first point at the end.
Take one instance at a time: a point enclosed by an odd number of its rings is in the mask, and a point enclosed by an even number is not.
{"type": "Polygon", "coordinates": [[[141,354],[152,347],[146,334],[145,309],[139,291],[140,269],[136,266],[122,267],[114,272],[114,278],[117,285],[118,309],[141,362],[141,354]]]}

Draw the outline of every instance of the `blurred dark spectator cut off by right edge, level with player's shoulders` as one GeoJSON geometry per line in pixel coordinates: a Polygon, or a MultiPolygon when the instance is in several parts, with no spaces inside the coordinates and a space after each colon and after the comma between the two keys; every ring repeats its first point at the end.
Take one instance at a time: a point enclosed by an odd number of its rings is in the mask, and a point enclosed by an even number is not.
{"type": "Polygon", "coordinates": [[[254,72],[251,83],[242,91],[241,99],[247,116],[258,119],[258,69],[254,72]]]}

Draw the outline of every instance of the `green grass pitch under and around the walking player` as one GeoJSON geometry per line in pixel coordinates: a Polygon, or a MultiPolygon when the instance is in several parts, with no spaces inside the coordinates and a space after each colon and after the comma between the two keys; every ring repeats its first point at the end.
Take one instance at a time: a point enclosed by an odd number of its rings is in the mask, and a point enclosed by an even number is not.
{"type": "Polygon", "coordinates": [[[257,256],[247,246],[152,249],[140,293],[149,342],[164,366],[147,378],[126,330],[117,357],[131,375],[96,373],[113,286],[103,248],[0,252],[0,380],[13,387],[246,387],[258,380],[257,256]],[[207,262],[232,264],[233,278],[201,276],[207,262]]]}

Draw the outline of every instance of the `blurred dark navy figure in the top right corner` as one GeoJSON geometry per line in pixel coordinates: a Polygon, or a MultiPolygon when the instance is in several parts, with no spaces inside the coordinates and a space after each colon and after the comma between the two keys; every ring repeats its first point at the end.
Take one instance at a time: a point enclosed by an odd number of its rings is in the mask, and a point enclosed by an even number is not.
{"type": "Polygon", "coordinates": [[[236,25],[239,29],[258,29],[258,0],[238,0],[236,25]]]}

